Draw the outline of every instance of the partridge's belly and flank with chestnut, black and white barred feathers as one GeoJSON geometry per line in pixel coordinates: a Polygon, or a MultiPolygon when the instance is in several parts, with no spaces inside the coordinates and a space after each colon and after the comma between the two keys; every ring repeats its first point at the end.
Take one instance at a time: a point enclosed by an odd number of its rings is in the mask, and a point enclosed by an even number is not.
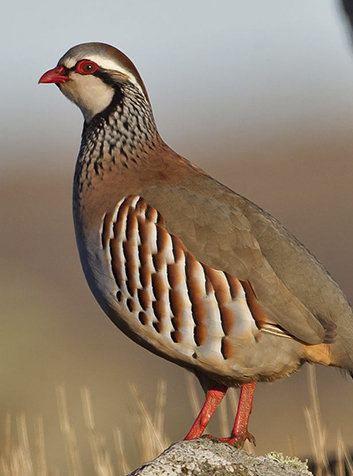
{"type": "Polygon", "coordinates": [[[302,344],[259,329],[240,281],[199,263],[147,207],[140,220],[123,205],[102,217],[80,254],[93,294],[125,334],[226,385],[299,367],[302,344]]]}

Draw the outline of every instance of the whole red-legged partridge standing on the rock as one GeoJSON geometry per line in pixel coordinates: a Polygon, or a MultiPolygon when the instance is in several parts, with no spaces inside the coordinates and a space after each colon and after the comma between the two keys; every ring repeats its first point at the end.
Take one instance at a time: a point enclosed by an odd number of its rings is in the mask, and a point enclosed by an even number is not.
{"type": "Polygon", "coordinates": [[[71,48],[41,83],[81,109],[73,210],[88,284],[131,339],[192,371],[202,435],[231,386],[230,438],[253,436],[256,382],[305,361],[353,370],[353,315],[336,282],[278,221],[171,150],[133,63],[102,43],[71,48]]]}

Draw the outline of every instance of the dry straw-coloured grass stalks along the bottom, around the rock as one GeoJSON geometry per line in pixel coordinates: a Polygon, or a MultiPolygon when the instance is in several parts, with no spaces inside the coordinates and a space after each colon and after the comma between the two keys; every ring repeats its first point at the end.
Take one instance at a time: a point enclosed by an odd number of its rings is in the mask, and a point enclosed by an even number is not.
{"type": "MultiPolygon", "coordinates": [[[[353,463],[344,444],[341,433],[337,434],[336,466],[330,468],[326,450],[327,428],[322,421],[320,403],[316,385],[314,366],[309,366],[308,385],[310,393],[310,407],[305,408],[311,450],[315,463],[315,476],[353,476],[353,463]]],[[[190,405],[196,415],[201,407],[195,388],[195,379],[188,375],[188,393],[190,405]]],[[[150,411],[139,394],[136,386],[130,385],[134,399],[134,411],[130,415],[134,424],[134,438],[138,448],[140,463],[149,461],[160,454],[170,445],[170,440],[164,432],[164,415],[166,405],[166,382],[160,381],[157,387],[155,410],[150,411]]],[[[67,398],[64,386],[56,389],[58,413],[61,432],[65,442],[67,476],[84,476],[78,440],[75,429],[70,423],[67,398]]],[[[94,420],[91,395],[87,387],[81,390],[84,421],[87,429],[90,452],[93,460],[91,474],[95,476],[124,476],[133,468],[125,456],[124,438],[119,428],[113,429],[115,455],[111,455],[106,446],[104,436],[97,430],[94,420]]],[[[235,414],[238,398],[236,391],[231,389],[223,400],[219,411],[219,425],[221,434],[229,434],[228,409],[235,414]]],[[[45,451],[43,421],[41,417],[34,420],[33,444],[27,430],[27,422],[23,413],[16,416],[15,425],[10,414],[7,414],[3,423],[3,438],[0,452],[0,476],[61,476],[58,470],[48,470],[45,451]],[[13,426],[15,428],[13,428],[13,426]]],[[[295,442],[290,441],[292,452],[295,452],[295,442]]],[[[247,446],[246,451],[254,453],[253,446],[247,446]]]]}

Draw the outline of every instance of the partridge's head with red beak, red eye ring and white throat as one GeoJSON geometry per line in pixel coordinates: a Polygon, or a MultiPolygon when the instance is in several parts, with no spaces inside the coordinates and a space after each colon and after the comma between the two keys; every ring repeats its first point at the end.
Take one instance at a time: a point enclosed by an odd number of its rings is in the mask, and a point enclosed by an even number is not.
{"type": "Polygon", "coordinates": [[[141,76],[130,59],[113,46],[83,43],[71,48],[39,83],[55,83],[82,111],[86,122],[120,101],[124,91],[141,93],[149,102],[141,76]]]}

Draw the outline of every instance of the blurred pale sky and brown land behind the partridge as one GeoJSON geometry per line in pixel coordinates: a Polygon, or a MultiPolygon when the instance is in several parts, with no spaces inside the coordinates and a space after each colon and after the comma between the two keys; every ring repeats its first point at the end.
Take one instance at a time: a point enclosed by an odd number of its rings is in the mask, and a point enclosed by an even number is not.
{"type": "MultiPolygon", "coordinates": [[[[158,379],[167,380],[166,432],[176,441],[193,421],[186,371],[129,341],[89,292],[71,218],[82,118],[38,79],[75,44],[121,49],[145,81],[164,140],[276,216],[353,302],[348,23],[338,0],[20,0],[2,11],[0,425],[6,412],[24,411],[33,436],[42,415],[49,466],[63,468],[55,385],[64,383],[90,468],[87,385],[107,446],[121,427],[134,467],[128,383],[152,407],[158,379]]],[[[340,428],[352,448],[353,382],[331,368],[317,375],[328,447],[340,428]]],[[[310,456],[308,404],[305,368],[260,384],[249,428],[257,454],[288,454],[291,439],[297,456],[310,456]]],[[[219,434],[217,422],[210,430],[219,434]]]]}

